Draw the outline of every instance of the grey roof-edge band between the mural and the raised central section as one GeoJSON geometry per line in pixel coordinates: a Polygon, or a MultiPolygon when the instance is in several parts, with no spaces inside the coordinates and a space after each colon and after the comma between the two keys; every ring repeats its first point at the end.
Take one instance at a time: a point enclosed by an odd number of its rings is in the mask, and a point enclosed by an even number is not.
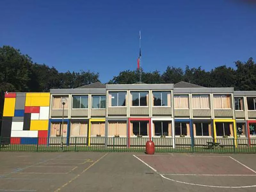
{"type": "Polygon", "coordinates": [[[106,94],[106,89],[51,89],[51,94],[106,94]]]}

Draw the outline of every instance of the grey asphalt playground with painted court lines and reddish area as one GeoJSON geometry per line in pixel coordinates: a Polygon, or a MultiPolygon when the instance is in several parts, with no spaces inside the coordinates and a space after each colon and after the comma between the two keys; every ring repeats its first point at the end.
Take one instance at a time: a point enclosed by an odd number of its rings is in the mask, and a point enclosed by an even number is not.
{"type": "Polygon", "coordinates": [[[256,191],[255,154],[1,152],[0,192],[256,191]]]}

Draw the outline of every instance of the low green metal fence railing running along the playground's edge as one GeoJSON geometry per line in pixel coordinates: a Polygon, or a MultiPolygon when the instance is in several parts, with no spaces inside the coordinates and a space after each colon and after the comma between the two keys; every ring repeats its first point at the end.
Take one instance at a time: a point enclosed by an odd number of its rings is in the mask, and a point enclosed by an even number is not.
{"type": "MultiPolygon", "coordinates": [[[[0,138],[0,151],[113,151],[144,152],[145,137],[0,138]]],[[[256,153],[256,139],[152,138],[156,152],[256,153]]]]}

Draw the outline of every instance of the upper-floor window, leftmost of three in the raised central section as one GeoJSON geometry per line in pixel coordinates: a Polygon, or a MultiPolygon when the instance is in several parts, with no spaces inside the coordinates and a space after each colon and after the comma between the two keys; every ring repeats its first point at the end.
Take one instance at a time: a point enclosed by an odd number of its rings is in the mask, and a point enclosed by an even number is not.
{"type": "Polygon", "coordinates": [[[109,92],[108,105],[112,107],[126,106],[126,92],[109,92]]]}

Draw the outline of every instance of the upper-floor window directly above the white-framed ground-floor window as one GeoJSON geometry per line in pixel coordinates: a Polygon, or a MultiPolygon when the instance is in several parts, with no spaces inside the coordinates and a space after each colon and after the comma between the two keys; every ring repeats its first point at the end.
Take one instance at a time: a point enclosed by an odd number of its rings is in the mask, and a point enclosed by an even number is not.
{"type": "Polygon", "coordinates": [[[153,106],[171,106],[170,91],[153,91],[153,106]]]}

